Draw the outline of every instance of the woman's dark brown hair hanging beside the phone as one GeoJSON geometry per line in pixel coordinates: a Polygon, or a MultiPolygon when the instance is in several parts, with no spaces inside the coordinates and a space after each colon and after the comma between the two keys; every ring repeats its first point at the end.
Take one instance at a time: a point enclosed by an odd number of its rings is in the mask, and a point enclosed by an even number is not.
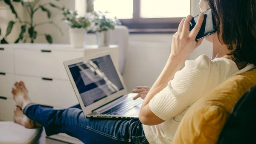
{"type": "Polygon", "coordinates": [[[256,0],[203,0],[212,9],[219,41],[236,62],[256,65],[256,0]]]}

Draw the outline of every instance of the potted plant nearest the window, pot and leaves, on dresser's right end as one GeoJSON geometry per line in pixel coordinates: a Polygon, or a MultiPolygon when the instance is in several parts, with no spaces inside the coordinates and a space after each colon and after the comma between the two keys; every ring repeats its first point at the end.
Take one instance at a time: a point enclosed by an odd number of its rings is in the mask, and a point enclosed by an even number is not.
{"type": "Polygon", "coordinates": [[[114,18],[106,17],[108,12],[102,13],[93,12],[93,31],[96,33],[97,43],[100,46],[109,46],[111,31],[115,28],[116,25],[121,25],[121,22],[114,18]]]}

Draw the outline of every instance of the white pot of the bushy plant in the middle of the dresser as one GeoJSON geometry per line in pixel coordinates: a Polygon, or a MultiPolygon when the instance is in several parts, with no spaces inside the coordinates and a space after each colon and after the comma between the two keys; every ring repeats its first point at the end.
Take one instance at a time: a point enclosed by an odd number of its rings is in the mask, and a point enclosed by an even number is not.
{"type": "Polygon", "coordinates": [[[70,28],[70,45],[72,48],[85,48],[87,31],[83,28],[70,28]]]}

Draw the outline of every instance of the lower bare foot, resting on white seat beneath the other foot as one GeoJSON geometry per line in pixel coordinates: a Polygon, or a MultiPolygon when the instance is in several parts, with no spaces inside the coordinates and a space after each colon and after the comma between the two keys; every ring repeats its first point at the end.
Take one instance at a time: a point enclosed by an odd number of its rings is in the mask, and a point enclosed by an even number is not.
{"type": "Polygon", "coordinates": [[[26,115],[24,115],[22,110],[18,106],[14,107],[13,121],[17,124],[23,125],[26,128],[42,127],[40,124],[36,123],[35,121],[29,119],[26,115]]]}

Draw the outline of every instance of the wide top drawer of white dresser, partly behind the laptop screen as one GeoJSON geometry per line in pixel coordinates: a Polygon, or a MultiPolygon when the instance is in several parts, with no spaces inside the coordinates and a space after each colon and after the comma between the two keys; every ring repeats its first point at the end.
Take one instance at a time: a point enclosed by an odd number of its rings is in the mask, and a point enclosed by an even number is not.
{"type": "Polygon", "coordinates": [[[84,56],[84,51],[15,50],[17,74],[67,79],[63,62],[84,56]]]}

